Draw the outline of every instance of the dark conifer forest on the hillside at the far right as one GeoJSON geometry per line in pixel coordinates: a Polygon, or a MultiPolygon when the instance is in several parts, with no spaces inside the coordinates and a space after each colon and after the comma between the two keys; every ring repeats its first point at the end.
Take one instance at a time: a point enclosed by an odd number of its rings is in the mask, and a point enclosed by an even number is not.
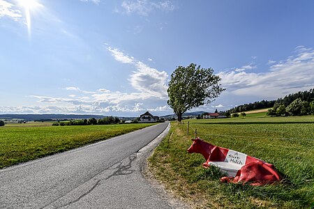
{"type": "Polygon", "coordinates": [[[242,111],[250,111],[255,109],[264,109],[264,108],[273,108],[277,109],[279,106],[284,105],[288,107],[294,100],[300,99],[304,102],[311,103],[314,100],[314,89],[310,89],[310,91],[299,91],[298,93],[290,93],[290,95],[286,95],[284,98],[278,98],[277,100],[262,100],[259,102],[253,102],[249,104],[242,104],[232,109],[227,110],[230,114],[242,111]]]}

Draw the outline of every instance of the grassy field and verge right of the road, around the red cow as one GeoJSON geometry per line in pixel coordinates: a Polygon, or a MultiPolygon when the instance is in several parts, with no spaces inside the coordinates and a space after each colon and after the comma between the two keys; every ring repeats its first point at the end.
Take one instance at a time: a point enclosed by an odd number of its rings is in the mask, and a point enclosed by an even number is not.
{"type": "Polygon", "coordinates": [[[169,136],[149,158],[149,167],[166,188],[193,208],[314,207],[314,116],[191,119],[174,122],[169,136]],[[238,150],[274,164],[284,176],[275,185],[220,183],[215,167],[203,169],[204,157],[188,154],[193,129],[211,144],[238,150]]]}

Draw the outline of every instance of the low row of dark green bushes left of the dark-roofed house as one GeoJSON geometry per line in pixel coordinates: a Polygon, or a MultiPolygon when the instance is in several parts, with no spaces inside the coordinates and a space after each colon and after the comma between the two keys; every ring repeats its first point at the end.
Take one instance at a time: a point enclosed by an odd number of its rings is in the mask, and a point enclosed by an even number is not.
{"type": "MultiPolygon", "coordinates": [[[[124,121],[122,121],[123,123],[124,121]]],[[[68,121],[68,122],[60,122],[60,123],[52,123],[54,126],[65,126],[65,125],[111,125],[111,124],[117,124],[121,123],[120,119],[117,117],[109,116],[106,118],[89,118],[84,120],[78,120],[78,121],[68,121]]]]}

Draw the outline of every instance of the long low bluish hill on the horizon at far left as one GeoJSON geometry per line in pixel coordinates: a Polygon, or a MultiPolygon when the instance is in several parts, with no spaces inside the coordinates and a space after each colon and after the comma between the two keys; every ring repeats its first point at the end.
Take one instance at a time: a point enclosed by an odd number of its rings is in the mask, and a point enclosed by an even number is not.
{"type": "Polygon", "coordinates": [[[75,115],[75,114],[0,114],[1,119],[20,119],[26,121],[49,121],[49,120],[70,120],[70,119],[89,119],[104,118],[101,115],[75,115]]]}

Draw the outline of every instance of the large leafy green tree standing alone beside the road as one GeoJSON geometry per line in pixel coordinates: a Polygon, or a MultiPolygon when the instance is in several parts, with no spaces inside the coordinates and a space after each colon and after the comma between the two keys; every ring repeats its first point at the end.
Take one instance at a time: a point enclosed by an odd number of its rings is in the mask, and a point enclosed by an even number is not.
{"type": "Polygon", "coordinates": [[[225,89],[220,87],[220,77],[214,75],[212,68],[201,68],[191,63],[187,67],[179,66],[172,72],[167,93],[167,104],[182,120],[182,114],[193,107],[209,104],[225,89]]]}

